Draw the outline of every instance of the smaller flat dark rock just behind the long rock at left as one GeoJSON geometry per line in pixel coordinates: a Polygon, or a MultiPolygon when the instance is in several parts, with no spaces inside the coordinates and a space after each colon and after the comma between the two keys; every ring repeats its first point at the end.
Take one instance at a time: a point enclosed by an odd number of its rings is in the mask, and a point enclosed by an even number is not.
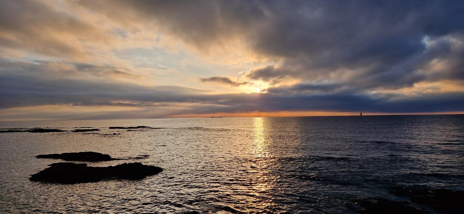
{"type": "Polygon", "coordinates": [[[38,155],[37,158],[63,159],[65,161],[110,161],[117,160],[110,155],[93,151],[69,152],[62,154],[38,155]]]}

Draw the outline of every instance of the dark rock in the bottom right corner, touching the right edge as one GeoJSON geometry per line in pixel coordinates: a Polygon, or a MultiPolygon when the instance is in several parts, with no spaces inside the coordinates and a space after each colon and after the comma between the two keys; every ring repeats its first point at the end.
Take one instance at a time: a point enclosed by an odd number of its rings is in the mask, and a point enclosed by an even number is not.
{"type": "Polygon", "coordinates": [[[390,191],[391,194],[410,197],[416,204],[427,205],[432,209],[444,213],[462,213],[464,191],[450,189],[415,189],[412,187],[398,187],[390,191]]]}

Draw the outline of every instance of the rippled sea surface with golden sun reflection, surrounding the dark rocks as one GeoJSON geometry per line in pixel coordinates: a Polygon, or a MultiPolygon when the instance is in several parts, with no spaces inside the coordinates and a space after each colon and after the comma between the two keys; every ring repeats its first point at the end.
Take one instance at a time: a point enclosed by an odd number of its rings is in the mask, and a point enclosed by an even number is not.
{"type": "Polygon", "coordinates": [[[345,201],[405,201],[388,193],[396,186],[464,190],[464,115],[0,122],[3,130],[83,126],[101,131],[0,133],[0,212],[353,213],[345,201]],[[121,135],[103,135],[113,132],[121,135]],[[28,180],[61,162],[34,156],[78,151],[150,155],[88,164],[164,171],[97,183],[28,180]]]}

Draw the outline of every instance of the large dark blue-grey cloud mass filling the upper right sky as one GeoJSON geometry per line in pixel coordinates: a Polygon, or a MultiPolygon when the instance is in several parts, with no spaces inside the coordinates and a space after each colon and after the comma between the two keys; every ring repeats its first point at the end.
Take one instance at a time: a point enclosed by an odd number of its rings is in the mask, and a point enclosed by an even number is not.
{"type": "Polygon", "coordinates": [[[126,17],[118,13],[130,11],[130,23],[156,23],[199,49],[242,38],[255,53],[283,60],[281,65],[246,74],[251,80],[272,84],[288,78],[304,82],[339,75],[334,81],[346,85],[409,87],[441,76],[419,72],[437,58],[454,59],[449,68],[454,74],[440,79],[462,76],[458,60],[464,50],[461,0],[80,0],[78,4],[121,23],[129,21],[121,20],[126,17]],[[436,42],[428,45],[426,38],[436,42]],[[451,49],[440,44],[453,40],[458,43],[451,49]]]}

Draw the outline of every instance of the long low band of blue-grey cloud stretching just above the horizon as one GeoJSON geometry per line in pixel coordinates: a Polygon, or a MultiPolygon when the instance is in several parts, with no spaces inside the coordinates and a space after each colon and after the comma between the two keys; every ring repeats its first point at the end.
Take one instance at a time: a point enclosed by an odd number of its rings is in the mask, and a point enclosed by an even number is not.
{"type": "MultiPolygon", "coordinates": [[[[269,88],[268,93],[205,94],[176,86],[139,86],[44,76],[43,64],[5,62],[0,69],[0,108],[39,105],[162,107],[195,104],[187,113],[249,111],[460,111],[464,93],[373,96],[335,84],[269,88]],[[311,91],[312,93],[307,93],[311,91]],[[306,92],[306,93],[305,93],[306,92]],[[426,105],[425,105],[426,103],[426,105]]],[[[182,111],[174,113],[186,113],[182,111]]]]}

